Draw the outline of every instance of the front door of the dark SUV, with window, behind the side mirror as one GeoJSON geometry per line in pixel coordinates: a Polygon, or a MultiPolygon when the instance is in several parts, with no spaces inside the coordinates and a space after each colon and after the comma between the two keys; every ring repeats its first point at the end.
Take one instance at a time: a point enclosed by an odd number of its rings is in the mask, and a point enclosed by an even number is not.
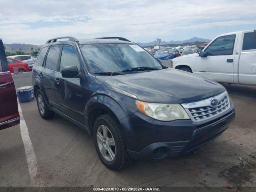
{"type": "Polygon", "coordinates": [[[55,75],[56,99],[58,110],[69,117],[84,123],[86,98],[83,94],[84,81],[80,78],[63,78],[61,70],[65,66],[75,65],[80,71],[80,61],[73,46],[63,46],[60,58],[60,69],[55,75]]]}

